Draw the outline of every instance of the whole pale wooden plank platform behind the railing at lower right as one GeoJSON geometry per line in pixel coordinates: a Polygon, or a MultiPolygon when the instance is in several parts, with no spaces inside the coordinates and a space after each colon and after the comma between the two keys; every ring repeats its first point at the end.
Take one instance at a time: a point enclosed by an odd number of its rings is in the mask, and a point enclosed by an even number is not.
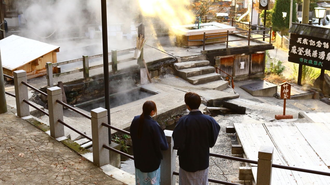
{"type": "MultiPolygon", "coordinates": [[[[330,172],[330,123],[234,124],[248,159],[258,160],[260,146],[274,147],[273,163],[330,172]]],[[[256,181],[257,167],[252,166],[256,181]]],[[[330,177],[273,168],[274,184],[330,184],[330,177]]]]}

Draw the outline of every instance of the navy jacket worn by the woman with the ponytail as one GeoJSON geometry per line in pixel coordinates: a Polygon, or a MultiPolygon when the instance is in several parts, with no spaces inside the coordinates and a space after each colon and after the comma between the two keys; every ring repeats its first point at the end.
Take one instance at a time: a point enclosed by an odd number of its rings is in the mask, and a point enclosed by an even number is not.
{"type": "Polygon", "coordinates": [[[159,168],[160,160],[163,159],[160,150],[167,150],[168,144],[163,129],[149,115],[145,116],[142,136],[139,139],[139,119],[140,116],[135,116],[130,127],[134,165],[141,172],[153,172],[159,168]]]}

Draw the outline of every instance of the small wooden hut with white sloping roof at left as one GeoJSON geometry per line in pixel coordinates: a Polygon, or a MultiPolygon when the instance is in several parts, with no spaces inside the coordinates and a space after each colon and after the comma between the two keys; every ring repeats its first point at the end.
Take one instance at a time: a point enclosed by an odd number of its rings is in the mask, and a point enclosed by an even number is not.
{"type": "Polygon", "coordinates": [[[58,46],[11,35],[0,40],[3,73],[13,76],[16,70],[26,71],[27,79],[46,75],[46,62],[56,63],[58,46]]]}

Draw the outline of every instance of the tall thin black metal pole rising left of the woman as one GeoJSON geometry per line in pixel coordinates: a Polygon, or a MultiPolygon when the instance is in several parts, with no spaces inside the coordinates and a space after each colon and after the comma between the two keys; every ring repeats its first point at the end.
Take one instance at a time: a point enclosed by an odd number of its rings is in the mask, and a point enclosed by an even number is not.
{"type": "MultiPolygon", "coordinates": [[[[103,75],[104,75],[104,99],[105,108],[108,110],[108,124],[110,124],[110,97],[109,97],[109,58],[108,58],[108,24],[107,1],[101,0],[102,18],[102,44],[103,44],[103,75]]],[[[111,129],[109,130],[109,144],[111,144],[111,129]]]]}

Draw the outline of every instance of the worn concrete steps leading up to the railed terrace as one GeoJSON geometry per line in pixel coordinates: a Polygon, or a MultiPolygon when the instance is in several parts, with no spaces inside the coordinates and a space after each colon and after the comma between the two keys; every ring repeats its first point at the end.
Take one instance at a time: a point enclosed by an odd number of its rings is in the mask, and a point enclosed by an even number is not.
{"type": "Polygon", "coordinates": [[[215,68],[210,66],[208,60],[185,61],[172,65],[175,74],[191,84],[199,85],[216,81],[227,87],[228,82],[221,80],[220,74],[215,73],[215,68]]]}

